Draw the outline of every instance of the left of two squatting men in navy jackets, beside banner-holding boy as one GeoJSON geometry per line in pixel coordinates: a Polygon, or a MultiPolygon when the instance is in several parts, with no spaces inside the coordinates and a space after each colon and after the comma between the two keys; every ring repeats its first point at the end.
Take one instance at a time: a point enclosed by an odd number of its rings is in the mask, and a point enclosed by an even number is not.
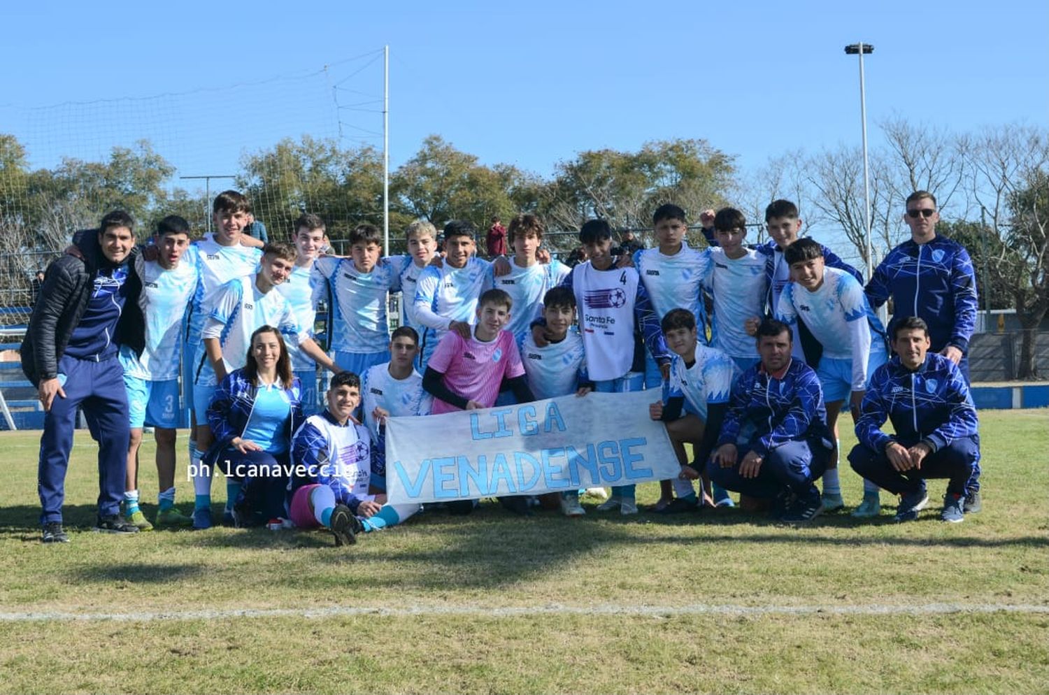
{"type": "Polygon", "coordinates": [[[791,359],[790,326],[765,319],[756,332],[761,362],[732,388],[707,472],[727,490],[775,500],[782,521],[809,521],[822,511],[815,480],[834,447],[819,378],[791,359]]]}

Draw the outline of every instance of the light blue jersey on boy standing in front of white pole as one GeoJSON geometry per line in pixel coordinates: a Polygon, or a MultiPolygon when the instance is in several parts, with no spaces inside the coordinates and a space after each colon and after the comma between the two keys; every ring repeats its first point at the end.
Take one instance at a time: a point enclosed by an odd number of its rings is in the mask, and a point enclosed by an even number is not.
{"type": "Polygon", "coordinates": [[[373,353],[390,342],[386,318],[389,292],[400,289],[400,265],[382,259],[371,273],[361,273],[350,258],[318,258],[314,278],[329,297],[328,332],[337,352],[373,353]]]}

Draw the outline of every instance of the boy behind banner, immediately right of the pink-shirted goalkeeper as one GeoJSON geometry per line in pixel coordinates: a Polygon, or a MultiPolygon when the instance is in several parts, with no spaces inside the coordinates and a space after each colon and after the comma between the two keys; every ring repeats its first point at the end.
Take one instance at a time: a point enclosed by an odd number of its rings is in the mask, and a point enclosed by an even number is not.
{"type": "MultiPolygon", "coordinates": [[[[536,345],[531,331],[523,334],[519,345],[532,394],[536,399],[570,393],[586,395],[594,390],[594,383],[586,376],[583,339],[572,327],[576,322],[576,296],[568,287],[549,290],[542,298],[542,318],[547,322],[545,345],[536,345]]],[[[558,504],[566,517],[586,514],[579,503],[579,491],[560,493],[558,504]]]]}

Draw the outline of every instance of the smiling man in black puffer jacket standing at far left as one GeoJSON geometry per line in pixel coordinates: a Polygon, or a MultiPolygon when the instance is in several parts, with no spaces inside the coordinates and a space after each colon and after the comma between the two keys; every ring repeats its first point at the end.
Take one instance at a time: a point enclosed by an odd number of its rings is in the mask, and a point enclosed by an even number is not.
{"type": "Polygon", "coordinates": [[[141,350],[145,335],[137,305],[141,284],[128,273],[133,225],[130,215],[115,211],[98,231],[78,235],[77,255],[63,255],[48,266],[22,343],[22,371],[38,388],[47,413],[38,469],[45,543],[69,540],[62,529],[62,503],[78,407],[99,442],[97,528],[137,530],[119,514],[129,425],[117,343],[141,350]]]}

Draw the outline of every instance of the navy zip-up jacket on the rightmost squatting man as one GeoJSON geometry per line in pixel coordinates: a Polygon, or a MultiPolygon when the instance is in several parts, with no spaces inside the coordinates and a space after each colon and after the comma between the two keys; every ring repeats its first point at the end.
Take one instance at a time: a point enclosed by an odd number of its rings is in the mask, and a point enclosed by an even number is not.
{"type": "Polygon", "coordinates": [[[899,355],[875,370],[860,405],[856,437],[876,452],[892,441],[904,447],[924,442],[937,452],[955,439],[977,434],[978,425],[961,370],[929,350],[915,371],[904,367],[899,355]],[[893,422],[895,435],[881,431],[886,419],[893,422]]]}

